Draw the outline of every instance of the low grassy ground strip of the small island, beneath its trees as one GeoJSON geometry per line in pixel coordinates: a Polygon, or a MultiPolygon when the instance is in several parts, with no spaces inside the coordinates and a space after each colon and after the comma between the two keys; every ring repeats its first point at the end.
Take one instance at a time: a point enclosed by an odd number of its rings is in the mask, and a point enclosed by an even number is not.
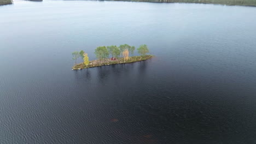
{"type": "Polygon", "coordinates": [[[117,58],[116,60],[112,61],[110,58],[102,60],[103,62],[100,62],[100,60],[96,59],[94,61],[89,61],[89,65],[86,66],[84,63],[79,63],[77,65],[74,65],[73,70],[78,69],[86,69],[86,68],[93,68],[93,67],[101,67],[102,65],[112,65],[112,64],[125,64],[125,63],[133,63],[133,62],[139,62],[139,61],[145,61],[147,59],[152,58],[153,55],[145,55],[145,56],[133,56],[129,57],[125,61],[125,58],[117,58]]]}

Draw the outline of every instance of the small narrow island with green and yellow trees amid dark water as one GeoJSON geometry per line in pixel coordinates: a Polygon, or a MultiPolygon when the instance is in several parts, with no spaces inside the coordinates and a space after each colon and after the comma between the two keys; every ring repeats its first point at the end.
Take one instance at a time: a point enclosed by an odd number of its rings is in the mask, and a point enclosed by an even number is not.
{"type": "Polygon", "coordinates": [[[127,44],[115,46],[99,46],[95,49],[95,55],[98,59],[89,61],[88,54],[83,50],[78,52],[75,51],[72,53],[75,65],[72,70],[79,70],[85,68],[100,67],[102,65],[112,65],[112,64],[124,64],[124,63],[133,63],[139,61],[145,61],[149,58],[152,58],[153,55],[147,55],[149,53],[147,45],[141,45],[138,47],[138,53],[140,56],[129,56],[131,53],[133,55],[135,46],[130,46],[127,44]],[[121,55],[120,55],[121,54],[121,55]],[[109,58],[109,55],[111,56],[109,58]],[[83,63],[77,64],[78,58],[83,59],[83,63]]]}

